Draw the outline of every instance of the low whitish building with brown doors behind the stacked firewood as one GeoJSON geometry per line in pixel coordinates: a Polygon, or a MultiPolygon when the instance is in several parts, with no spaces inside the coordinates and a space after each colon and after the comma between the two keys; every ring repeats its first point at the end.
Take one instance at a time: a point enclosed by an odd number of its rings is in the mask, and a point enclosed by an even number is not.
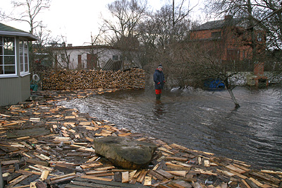
{"type": "Polygon", "coordinates": [[[123,56],[117,47],[106,45],[55,47],[53,50],[55,69],[104,69],[109,64],[118,64],[118,69],[128,69],[137,66],[137,61],[123,56]],[[122,61],[122,63],[121,63],[122,61]]]}

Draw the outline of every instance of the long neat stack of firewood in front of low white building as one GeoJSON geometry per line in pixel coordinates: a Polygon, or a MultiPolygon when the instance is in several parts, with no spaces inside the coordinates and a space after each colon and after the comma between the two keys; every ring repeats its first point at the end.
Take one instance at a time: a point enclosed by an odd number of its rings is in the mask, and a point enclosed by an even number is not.
{"type": "Polygon", "coordinates": [[[45,71],[43,90],[85,90],[95,88],[145,88],[145,71],[45,71]]]}

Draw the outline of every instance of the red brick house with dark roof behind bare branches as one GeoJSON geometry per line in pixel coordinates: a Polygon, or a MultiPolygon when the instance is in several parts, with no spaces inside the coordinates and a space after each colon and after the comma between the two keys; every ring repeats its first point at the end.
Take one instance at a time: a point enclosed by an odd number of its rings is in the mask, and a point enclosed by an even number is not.
{"type": "Polygon", "coordinates": [[[264,52],[266,42],[262,30],[255,30],[254,33],[255,40],[252,40],[245,18],[226,16],[223,20],[209,21],[194,28],[190,36],[192,41],[200,42],[223,64],[240,63],[242,71],[251,71],[254,68],[250,64],[253,50],[264,52]]]}

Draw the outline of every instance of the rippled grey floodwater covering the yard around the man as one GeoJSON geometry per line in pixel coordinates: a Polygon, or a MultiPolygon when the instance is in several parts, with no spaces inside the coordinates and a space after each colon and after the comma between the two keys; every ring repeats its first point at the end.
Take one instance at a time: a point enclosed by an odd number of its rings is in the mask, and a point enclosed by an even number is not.
{"type": "Polygon", "coordinates": [[[156,102],[154,90],[123,90],[63,102],[117,127],[168,143],[243,160],[254,167],[282,169],[282,90],[172,89],[156,102]]]}

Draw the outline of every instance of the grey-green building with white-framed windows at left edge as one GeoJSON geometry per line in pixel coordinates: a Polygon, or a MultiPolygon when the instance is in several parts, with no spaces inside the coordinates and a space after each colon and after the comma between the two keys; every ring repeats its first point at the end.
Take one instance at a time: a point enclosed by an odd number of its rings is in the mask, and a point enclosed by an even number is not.
{"type": "Polygon", "coordinates": [[[30,98],[28,42],[37,37],[0,23],[0,106],[30,98]]]}

